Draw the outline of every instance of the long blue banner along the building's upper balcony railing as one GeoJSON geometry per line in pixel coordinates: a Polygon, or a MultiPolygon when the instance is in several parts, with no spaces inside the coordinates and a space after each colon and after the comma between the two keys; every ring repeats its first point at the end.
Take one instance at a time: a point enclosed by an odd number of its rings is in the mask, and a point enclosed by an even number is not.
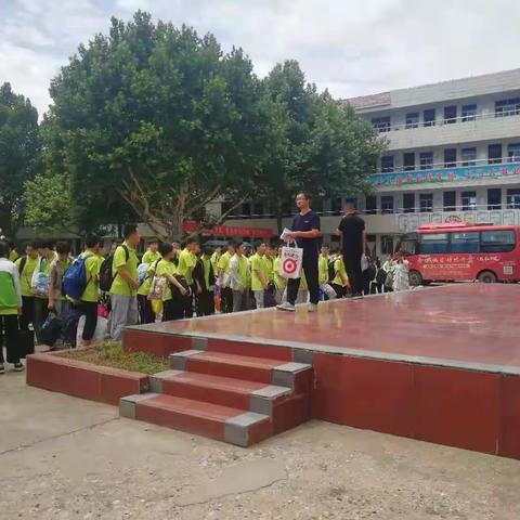
{"type": "Polygon", "coordinates": [[[520,162],[500,165],[461,166],[437,170],[414,170],[399,173],[375,173],[368,177],[374,186],[405,186],[410,184],[433,184],[437,182],[498,180],[504,177],[519,176],[520,162]]]}

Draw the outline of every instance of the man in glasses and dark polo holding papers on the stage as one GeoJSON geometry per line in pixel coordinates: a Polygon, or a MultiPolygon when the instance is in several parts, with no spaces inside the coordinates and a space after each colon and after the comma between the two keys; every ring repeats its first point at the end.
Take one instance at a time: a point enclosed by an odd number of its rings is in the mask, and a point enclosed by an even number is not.
{"type": "MultiPolygon", "coordinates": [[[[303,249],[302,269],[310,291],[309,312],[317,310],[320,298],[320,284],[317,276],[317,258],[320,256],[320,216],[310,208],[310,197],[307,193],[296,196],[296,205],[300,212],[292,221],[291,232],[286,235],[288,240],[296,240],[298,247],[303,249]]],[[[287,301],[277,306],[282,311],[296,310],[295,302],[298,297],[300,278],[290,278],[287,282],[287,301]]]]}

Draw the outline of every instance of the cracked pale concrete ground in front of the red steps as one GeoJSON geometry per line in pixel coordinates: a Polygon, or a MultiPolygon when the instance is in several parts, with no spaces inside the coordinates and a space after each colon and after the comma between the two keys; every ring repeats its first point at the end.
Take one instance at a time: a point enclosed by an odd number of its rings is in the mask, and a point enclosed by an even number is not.
{"type": "Polygon", "coordinates": [[[0,519],[520,518],[520,461],[311,421],[248,450],[0,376],[0,519]]]}

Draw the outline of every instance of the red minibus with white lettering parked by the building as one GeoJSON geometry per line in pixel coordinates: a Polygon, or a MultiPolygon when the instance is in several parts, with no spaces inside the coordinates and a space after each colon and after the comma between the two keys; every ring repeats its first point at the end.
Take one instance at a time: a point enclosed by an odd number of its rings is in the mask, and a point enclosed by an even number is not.
{"type": "Polygon", "coordinates": [[[520,227],[450,223],[421,225],[404,235],[411,285],[429,282],[520,281],[520,227]]]}

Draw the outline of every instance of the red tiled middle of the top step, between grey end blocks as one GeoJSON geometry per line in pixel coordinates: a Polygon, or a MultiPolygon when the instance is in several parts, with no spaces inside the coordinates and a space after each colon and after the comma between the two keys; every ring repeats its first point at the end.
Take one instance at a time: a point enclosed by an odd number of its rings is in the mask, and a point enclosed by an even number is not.
{"type": "Polygon", "coordinates": [[[272,369],[280,364],[276,360],[203,352],[186,359],[186,370],[270,385],[272,369]]]}

